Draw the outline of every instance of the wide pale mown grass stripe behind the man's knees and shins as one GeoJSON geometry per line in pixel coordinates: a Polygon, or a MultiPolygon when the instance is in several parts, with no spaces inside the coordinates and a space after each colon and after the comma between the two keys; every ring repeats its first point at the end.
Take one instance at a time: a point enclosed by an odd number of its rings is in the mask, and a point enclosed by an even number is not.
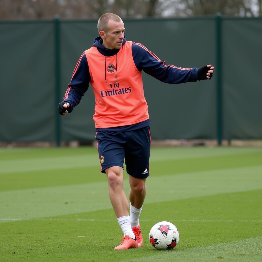
{"type": "MultiPolygon", "coordinates": [[[[262,166],[150,177],[146,203],[262,188],[262,166]],[[248,179],[247,179],[248,175],[248,179]]],[[[124,181],[129,192],[128,181],[124,181]]],[[[2,218],[39,218],[108,209],[107,182],[0,192],[2,218]]]]}

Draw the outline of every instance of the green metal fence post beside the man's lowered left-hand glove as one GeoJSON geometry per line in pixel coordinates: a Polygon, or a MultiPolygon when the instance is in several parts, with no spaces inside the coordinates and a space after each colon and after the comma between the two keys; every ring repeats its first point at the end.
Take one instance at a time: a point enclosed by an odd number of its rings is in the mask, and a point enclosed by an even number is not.
{"type": "Polygon", "coordinates": [[[60,98],[60,17],[54,16],[54,61],[55,61],[55,130],[56,130],[56,146],[61,145],[61,116],[58,114],[58,104],[60,98]]]}

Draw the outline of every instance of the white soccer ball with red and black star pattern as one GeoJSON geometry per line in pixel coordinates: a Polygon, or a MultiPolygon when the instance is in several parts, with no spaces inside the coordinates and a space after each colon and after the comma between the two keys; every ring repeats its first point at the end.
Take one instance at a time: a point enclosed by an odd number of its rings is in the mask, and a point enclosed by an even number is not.
{"type": "Polygon", "coordinates": [[[162,221],[151,228],[149,240],[156,249],[172,249],[179,241],[179,232],[172,223],[162,221]]]}

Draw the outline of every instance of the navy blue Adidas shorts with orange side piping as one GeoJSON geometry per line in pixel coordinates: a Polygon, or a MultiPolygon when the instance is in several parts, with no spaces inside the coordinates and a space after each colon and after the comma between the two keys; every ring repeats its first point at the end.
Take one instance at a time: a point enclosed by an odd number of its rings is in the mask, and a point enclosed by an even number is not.
{"type": "Polygon", "coordinates": [[[112,166],[127,168],[135,178],[149,176],[149,155],[151,145],[150,127],[133,131],[99,131],[96,133],[101,172],[112,166]]]}

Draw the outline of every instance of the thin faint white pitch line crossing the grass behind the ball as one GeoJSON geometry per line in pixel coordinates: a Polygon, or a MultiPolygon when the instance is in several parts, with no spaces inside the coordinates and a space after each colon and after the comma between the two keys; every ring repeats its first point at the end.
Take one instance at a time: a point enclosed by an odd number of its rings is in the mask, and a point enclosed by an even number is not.
{"type": "MultiPolygon", "coordinates": [[[[22,221],[22,220],[34,220],[34,221],[102,221],[102,222],[110,222],[116,221],[116,219],[60,219],[60,218],[39,218],[39,219],[21,219],[21,218],[0,218],[0,221],[22,221]]],[[[152,221],[156,222],[155,220],[150,219],[140,219],[140,221],[152,221]]],[[[195,219],[181,219],[181,220],[170,220],[169,222],[259,222],[261,223],[262,220],[195,220],[195,219]]]]}

